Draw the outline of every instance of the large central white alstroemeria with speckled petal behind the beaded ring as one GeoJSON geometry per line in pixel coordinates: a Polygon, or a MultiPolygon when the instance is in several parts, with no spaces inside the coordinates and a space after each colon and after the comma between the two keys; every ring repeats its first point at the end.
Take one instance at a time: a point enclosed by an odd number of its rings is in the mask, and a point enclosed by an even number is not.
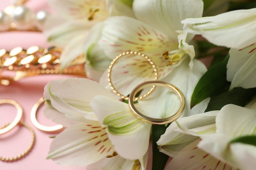
{"type": "MultiPolygon", "coordinates": [[[[193,88],[206,68],[200,61],[193,59],[194,48],[187,43],[193,35],[176,31],[182,30],[182,19],[202,16],[202,0],[134,0],[132,9],[136,19],[115,16],[103,22],[99,42],[95,43],[98,46],[97,51],[101,51],[101,54],[110,59],[124,51],[137,51],[148,55],[158,69],[159,79],[180,88],[186,97],[186,103],[190,103],[193,88]],[[168,60],[163,57],[164,51],[169,51],[168,60]],[[168,63],[172,65],[166,66],[168,63]]],[[[92,55],[90,57],[94,58],[92,55]]],[[[103,73],[100,84],[111,90],[107,74],[108,71],[103,73]]],[[[154,74],[153,68],[143,57],[126,55],[113,66],[111,78],[115,88],[123,95],[128,95],[141,82],[153,80],[154,74]]],[[[139,102],[141,106],[145,106],[143,108],[146,113],[151,112],[150,115],[156,118],[171,116],[179,106],[177,97],[168,89],[163,89],[156,89],[158,93],[152,93],[139,102]],[[159,101],[159,95],[163,97],[162,102],[159,101]],[[157,107],[156,103],[159,104],[157,107]]],[[[146,93],[146,90],[142,93],[146,93]]],[[[196,106],[200,108],[200,112],[204,111],[205,107],[202,106],[206,106],[206,103],[196,106]]],[[[186,105],[182,116],[191,114],[193,112],[191,113],[186,105]]]]}

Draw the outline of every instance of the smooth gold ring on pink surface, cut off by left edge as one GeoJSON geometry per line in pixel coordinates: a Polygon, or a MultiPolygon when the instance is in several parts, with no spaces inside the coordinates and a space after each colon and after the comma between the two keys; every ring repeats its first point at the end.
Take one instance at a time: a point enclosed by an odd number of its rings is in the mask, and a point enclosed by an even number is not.
{"type": "Polygon", "coordinates": [[[0,99],[0,104],[12,104],[17,109],[17,115],[15,119],[8,126],[0,129],[0,134],[3,134],[14,128],[20,122],[22,117],[22,108],[17,102],[11,99],[0,99]]]}

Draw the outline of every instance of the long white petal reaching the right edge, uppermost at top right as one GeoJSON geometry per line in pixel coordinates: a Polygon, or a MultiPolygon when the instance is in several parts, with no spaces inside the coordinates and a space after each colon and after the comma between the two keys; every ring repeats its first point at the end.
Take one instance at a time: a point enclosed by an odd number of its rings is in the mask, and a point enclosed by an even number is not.
{"type": "Polygon", "coordinates": [[[244,48],[255,43],[256,8],[236,10],[212,17],[188,18],[184,30],[202,34],[209,42],[229,48],[244,48]]]}

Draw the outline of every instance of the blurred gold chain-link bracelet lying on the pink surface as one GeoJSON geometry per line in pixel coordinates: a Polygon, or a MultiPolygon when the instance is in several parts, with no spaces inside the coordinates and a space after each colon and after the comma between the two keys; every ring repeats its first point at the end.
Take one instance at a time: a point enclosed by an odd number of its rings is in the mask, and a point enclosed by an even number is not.
{"type": "Polygon", "coordinates": [[[57,47],[41,49],[31,46],[27,51],[21,47],[12,49],[9,53],[0,49],[0,84],[9,85],[10,82],[18,81],[24,77],[40,74],[73,74],[86,77],[83,55],[78,56],[68,68],[60,71],[60,60],[62,50],[57,47]],[[15,72],[14,76],[7,76],[5,72],[15,72]]]}

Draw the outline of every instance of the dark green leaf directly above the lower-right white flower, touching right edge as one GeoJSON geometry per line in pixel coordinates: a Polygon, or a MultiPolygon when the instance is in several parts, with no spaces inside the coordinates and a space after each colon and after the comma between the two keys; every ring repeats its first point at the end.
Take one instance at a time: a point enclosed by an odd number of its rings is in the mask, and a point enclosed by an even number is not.
{"type": "Polygon", "coordinates": [[[211,96],[211,100],[205,111],[220,110],[227,104],[245,106],[256,95],[256,88],[233,88],[218,95],[211,96]]]}

